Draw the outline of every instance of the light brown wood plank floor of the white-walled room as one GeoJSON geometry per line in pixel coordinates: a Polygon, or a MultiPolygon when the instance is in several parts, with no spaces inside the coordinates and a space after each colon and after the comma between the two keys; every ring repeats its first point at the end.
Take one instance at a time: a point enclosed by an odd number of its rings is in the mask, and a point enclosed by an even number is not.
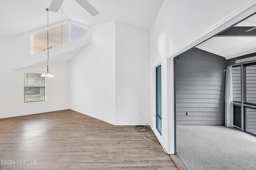
{"type": "Polygon", "coordinates": [[[72,110],[0,119],[0,160],[15,161],[0,169],[177,169],[158,143],[133,126],[72,110]]]}

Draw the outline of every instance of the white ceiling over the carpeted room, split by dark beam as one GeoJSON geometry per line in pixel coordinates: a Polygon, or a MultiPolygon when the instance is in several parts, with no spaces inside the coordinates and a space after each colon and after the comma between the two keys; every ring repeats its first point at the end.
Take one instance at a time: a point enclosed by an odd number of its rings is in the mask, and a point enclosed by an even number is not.
{"type": "MultiPolygon", "coordinates": [[[[256,26],[256,15],[235,26],[256,26]]],[[[212,37],[197,48],[227,59],[256,52],[256,37],[212,37]]]]}

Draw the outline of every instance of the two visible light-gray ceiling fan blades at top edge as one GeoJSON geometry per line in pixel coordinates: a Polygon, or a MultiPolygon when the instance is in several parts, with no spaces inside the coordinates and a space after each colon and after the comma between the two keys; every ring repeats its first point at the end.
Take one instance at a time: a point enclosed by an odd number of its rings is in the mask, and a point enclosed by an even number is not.
{"type": "MultiPolygon", "coordinates": [[[[60,6],[64,0],[52,0],[49,11],[58,12],[60,6]]],[[[100,14],[87,0],[75,0],[80,6],[82,6],[86,11],[88,11],[92,16],[100,14]]]]}

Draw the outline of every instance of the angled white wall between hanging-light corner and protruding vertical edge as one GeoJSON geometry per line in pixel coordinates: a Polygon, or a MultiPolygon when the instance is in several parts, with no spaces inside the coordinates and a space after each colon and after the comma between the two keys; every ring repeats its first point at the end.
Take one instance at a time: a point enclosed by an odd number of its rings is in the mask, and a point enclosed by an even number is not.
{"type": "Polygon", "coordinates": [[[71,109],[115,122],[115,21],[91,27],[92,43],[70,62],[71,109]]]}

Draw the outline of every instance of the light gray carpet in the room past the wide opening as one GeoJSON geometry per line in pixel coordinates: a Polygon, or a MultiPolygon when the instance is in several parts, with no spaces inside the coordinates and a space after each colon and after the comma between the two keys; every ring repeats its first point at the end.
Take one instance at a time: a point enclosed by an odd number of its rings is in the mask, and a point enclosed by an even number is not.
{"type": "Polygon", "coordinates": [[[256,137],[210,125],[177,125],[176,134],[188,170],[256,170],[256,137]]]}

